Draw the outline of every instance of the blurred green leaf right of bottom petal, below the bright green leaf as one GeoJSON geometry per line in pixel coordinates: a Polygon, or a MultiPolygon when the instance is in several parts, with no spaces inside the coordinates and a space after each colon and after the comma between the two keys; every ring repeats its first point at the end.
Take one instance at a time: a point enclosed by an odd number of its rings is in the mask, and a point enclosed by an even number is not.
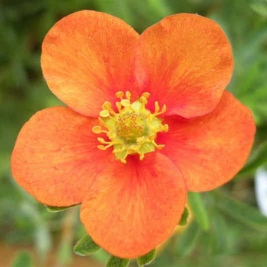
{"type": "Polygon", "coordinates": [[[188,255],[194,247],[197,234],[199,232],[199,226],[195,220],[193,220],[177,238],[175,245],[175,251],[177,256],[188,255]]]}

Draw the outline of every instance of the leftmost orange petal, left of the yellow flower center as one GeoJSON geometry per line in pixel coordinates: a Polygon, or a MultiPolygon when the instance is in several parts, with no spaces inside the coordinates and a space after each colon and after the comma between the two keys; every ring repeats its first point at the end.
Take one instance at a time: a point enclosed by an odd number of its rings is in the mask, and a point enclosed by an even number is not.
{"type": "Polygon", "coordinates": [[[16,181],[44,204],[81,203],[94,176],[113,156],[97,148],[96,124],[97,119],[67,107],[37,112],[23,126],[12,153],[16,181]]]}

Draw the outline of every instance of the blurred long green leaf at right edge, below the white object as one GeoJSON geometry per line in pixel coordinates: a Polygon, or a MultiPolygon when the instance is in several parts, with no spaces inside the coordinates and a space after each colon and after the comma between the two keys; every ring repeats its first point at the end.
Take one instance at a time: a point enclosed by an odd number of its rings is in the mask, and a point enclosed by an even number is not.
{"type": "Polygon", "coordinates": [[[267,217],[257,208],[215,191],[210,193],[214,197],[215,205],[226,214],[256,230],[267,232],[267,217]]]}

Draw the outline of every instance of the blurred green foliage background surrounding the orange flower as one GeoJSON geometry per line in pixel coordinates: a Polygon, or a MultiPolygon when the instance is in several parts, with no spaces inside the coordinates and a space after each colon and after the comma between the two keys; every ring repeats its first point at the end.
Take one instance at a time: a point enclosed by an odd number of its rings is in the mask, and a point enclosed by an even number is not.
{"type": "Polygon", "coordinates": [[[62,105],[42,77],[44,36],[58,20],[84,9],[117,16],[138,33],[176,13],[208,17],[225,31],[234,55],[227,90],[253,112],[254,147],[231,182],[189,195],[188,225],[161,246],[151,266],[267,266],[267,1],[248,0],[0,1],[0,266],[103,266],[108,257],[103,250],[75,255],[73,245],[85,234],[79,206],[48,212],[10,171],[23,124],[38,110],[62,105]]]}

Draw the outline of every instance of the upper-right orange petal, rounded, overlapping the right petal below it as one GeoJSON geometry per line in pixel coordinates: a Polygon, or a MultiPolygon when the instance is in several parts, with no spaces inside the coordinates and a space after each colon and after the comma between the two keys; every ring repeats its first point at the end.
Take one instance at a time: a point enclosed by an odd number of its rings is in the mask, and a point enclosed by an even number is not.
{"type": "Polygon", "coordinates": [[[233,68],[231,46],[213,21],[194,14],[166,17],[140,36],[135,76],[149,103],[185,118],[211,112],[233,68]]]}

